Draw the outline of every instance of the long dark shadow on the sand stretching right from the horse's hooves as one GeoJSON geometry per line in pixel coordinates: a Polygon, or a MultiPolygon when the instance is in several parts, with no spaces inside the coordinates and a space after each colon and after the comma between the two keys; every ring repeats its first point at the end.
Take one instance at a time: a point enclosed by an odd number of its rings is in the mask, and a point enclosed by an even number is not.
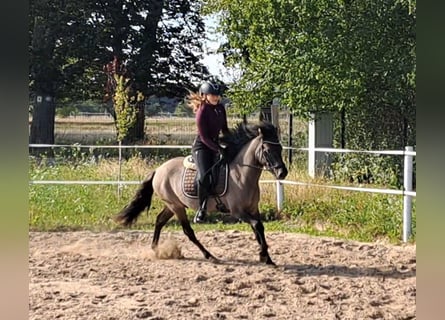
{"type": "MultiPolygon", "coordinates": [[[[209,263],[215,263],[219,265],[230,265],[230,266],[249,266],[249,267],[269,267],[258,261],[246,260],[246,259],[217,259],[217,260],[206,260],[202,258],[186,258],[183,260],[189,261],[208,261],[209,263]]],[[[337,276],[337,277],[348,277],[348,278],[362,278],[362,277],[376,277],[376,278],[392,278],[392,279],[408,279],[416,277],[416,269],[404,267],[401,270],[397,269],[395,266],[381,266],[381,267],[348,267],[344,265],[314,265],[314,264],[283,264],[270,266],[274,270],[282,271],[283,273],[295,276],[337,276]]]]}

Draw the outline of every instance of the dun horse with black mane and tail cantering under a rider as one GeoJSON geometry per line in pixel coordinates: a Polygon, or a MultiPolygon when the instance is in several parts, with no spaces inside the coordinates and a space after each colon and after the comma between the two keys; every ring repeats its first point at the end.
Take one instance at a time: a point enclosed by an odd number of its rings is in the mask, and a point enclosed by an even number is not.
{"type": "MultiPolygon", "coordinates": [[[[275,265],[268,253],[264,225],[259,212],[259,179],[263,170],[272,172],[276,179],[284,179],[288,170],[282,158],[283,147],[279,141],[278,130],[270,122],[259,124],[240,123],[220,138],[226,145],[224,160],[228,165],[227,191],[219,200],[209,197],[209,212],[220,211],[221,203],[231,216],[250,224],[260,245],[260,262],[275,265]]],[[[184,234],[192,241],[208,260],[218,261],[196,238],[186,215],[186,209],[198,209],[198,200],[187,197],[181,188],[184,174],[184,157],[167,160],[150,172],[142,181],[136,194],[114,220],[124,226],[131,226],[145,209],[150,208],[153,194],[165,204],[157,215],[151,247],[156,249],[162,227],[173,215],[180,222],[184,234]]]]}

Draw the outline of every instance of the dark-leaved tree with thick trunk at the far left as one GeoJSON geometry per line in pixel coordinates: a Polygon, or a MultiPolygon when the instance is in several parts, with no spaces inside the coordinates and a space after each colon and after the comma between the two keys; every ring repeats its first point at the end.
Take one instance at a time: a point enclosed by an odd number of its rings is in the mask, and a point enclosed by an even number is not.
{"type": "Polygon", "coordinates": [[[31,0],[29,10],[30,143],[54,143],[56,104],[101,90],[95,32],[84,24],[89,1],[31,0]]]}

